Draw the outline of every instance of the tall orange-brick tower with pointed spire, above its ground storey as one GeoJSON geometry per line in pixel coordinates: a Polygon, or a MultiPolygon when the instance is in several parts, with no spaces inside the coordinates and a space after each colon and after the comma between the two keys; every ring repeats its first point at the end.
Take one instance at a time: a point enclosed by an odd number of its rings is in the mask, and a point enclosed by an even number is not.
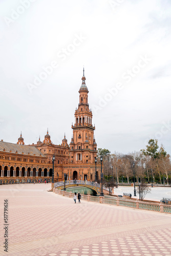
{"type": "Polygon", "coordinates": [[[78,109],[75,110],[75,123],[72,125],[70,161],[73,164],[86,165],[82,166],[83,171],[85,173],[87,170],[87,178],[90,180],[93,177],[90,172],[90,164],[94,164],[94,159],[97,156],[97,144],[94,139],[95,126],[92,125],[93,114],[89,109],[88,93],[83,69],[82,84],[79,89],[79,104],[78,109]]]}

